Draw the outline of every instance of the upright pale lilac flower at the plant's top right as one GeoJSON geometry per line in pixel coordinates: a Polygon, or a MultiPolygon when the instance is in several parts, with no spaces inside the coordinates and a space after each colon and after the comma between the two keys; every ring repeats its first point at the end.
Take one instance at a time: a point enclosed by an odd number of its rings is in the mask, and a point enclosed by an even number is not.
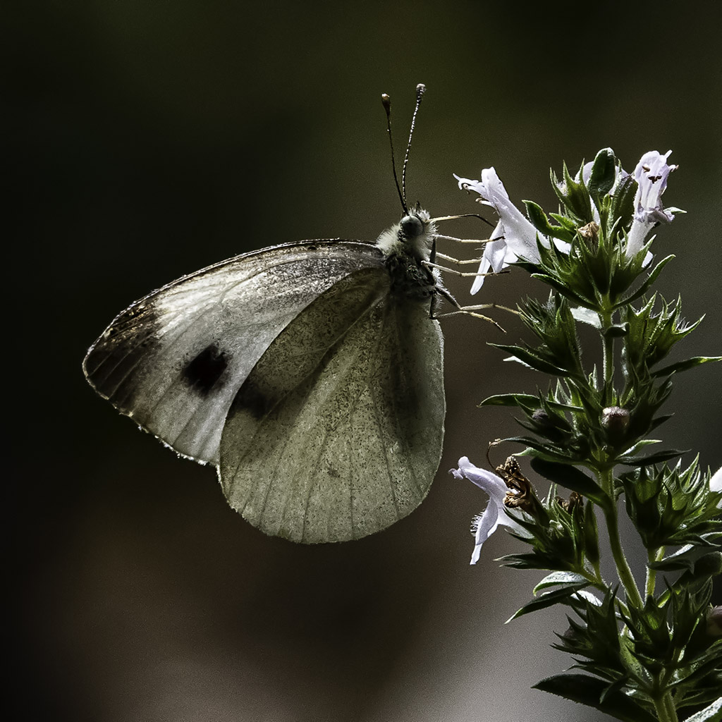
{"type": "Polygon", "coordinates": [[[671,209],[665,210],[661,200],[669,174],[678,168],[677,165],[667,165],[670,153],[671,150],[668,150],[660,155],[656,150],[651,150],[640,158],[635,168],[634,177],[638,188],[634,199],[634,220],[627,234],[627,258],[640,252],[653,227],[674,220],[674,213],[671,209]]]}

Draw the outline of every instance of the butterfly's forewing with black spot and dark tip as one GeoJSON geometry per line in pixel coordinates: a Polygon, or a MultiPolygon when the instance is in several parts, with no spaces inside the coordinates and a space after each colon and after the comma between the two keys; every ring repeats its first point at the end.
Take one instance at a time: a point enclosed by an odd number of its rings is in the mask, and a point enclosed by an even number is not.
{"type": "Polygon", "coordinates": [[[175,451],[218,463],[227,411],[269,344],[349,274],[383,268],[374,245],[320,240],[231,258],[131,305],[92,345],[95,390],[175,451]]]}

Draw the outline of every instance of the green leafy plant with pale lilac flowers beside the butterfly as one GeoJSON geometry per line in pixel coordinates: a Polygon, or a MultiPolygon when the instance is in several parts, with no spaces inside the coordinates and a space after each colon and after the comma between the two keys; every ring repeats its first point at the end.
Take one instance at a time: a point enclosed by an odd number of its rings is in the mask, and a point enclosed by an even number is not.
{"type": "Polygon", "coordinates": [[[526,215],[517,209],[494,168],[481,181],[457,177],[499,217],[480,274],[513,264],[550,287],[547,300],[518,306],[537,345],[494,345],[552,383],[482,405],[521,412],[528,433],[505,441],[523,444],[517,456],[530,457],[551,488],[539,499],[514,457],[495,472],[461,458],[454,476],[490,498],[474,520],[471,563],[500,525],[529,545],[501,561],[549,573],[512,619],[564,604],[569,628],[554,647],[575,660],[575,671],[536,687],[627,722],[719,720],[722,708],[722,607],[710,604],[722,570],[722,470],[711,475],[697,459],[683,468],[682,451],[652,451],[658,441],[648,438],[669,418],[659,412],[674,376],[720,360],[661,365],[701,321],[684,323],[679,300],[649,295],[672,258],[653,264],[651,230],[681,212],[662,204],[677,168],[668,157],[646,153],[628,174],[604,149],[574,176],[566,167],[561,179],[552,173],[560,210],[548,214],[531,201],[526,215]],[[599,367],[583,362],[580,323],[596,329],[599,367]],[[570,492],[566,499],[560,487],[570,492]],[[647,552],[641,589],[619,537],[622,497],[647,552]],[[618,579],[601,573],[598,517],[618,579]]]}

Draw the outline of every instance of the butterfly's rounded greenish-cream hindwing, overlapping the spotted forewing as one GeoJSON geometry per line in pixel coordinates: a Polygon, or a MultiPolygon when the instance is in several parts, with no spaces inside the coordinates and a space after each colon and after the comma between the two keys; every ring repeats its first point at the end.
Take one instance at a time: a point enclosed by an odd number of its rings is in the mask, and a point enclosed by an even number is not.
{"type": "Polygon", "coordinates": [[[233,508],[293,541],[358,539],[427,494],[443,440],[443,340],[428,299],[356,271],[298,313],[235,397],[219,476],[233,508]]]}

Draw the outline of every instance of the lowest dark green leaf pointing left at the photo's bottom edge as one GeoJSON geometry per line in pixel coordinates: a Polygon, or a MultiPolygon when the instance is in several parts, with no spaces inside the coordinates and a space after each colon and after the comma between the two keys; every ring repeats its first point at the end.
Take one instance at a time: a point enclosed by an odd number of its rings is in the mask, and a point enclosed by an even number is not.
{"type": "Polygon", "coordinates": [[[535,690],[549,692],[578,702],[580,705],[593,707],[623,722],[657,722],[656,716],[640,707],[624,692],[609,692],[602,702],[601,697],[607,687],[609,687],[608,682],[589,677],[587,674],[554,674],[553,677],[547,677],[534,684],[535,690]]]}

